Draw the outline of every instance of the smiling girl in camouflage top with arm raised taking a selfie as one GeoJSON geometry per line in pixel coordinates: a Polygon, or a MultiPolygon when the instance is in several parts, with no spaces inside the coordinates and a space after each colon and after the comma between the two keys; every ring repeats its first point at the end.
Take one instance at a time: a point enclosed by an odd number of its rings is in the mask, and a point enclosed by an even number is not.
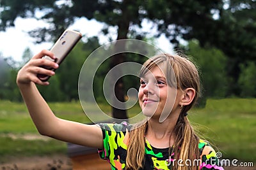
{"type": "Polygon", "coordinates": [[[40,134],[99,149],[111,169],[223,169],[212,147],[196,136],[186,117],[200,95],[198,71],[179,55],[157,55],[140,72],[138,99],[147,119],[139,124],[84,125],[55,117],[36,89],[36,74],[54,75],[48,50],[35,55],[17,75],[17,85],[40,134]]]}

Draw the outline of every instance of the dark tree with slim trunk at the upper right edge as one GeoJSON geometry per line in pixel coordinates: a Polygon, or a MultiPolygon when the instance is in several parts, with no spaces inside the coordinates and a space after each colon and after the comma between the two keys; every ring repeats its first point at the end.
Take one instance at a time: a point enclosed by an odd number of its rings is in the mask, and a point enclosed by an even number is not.
{"type": "MultiPolygon", "coordinates": [[[[208,28],[205,34],[196,32],[195,38],[200,41],[200,45],[212,45],[222,50],[228,57],[229,95],[239,96],[239,86],[237,81],[241,71],[241,64],[246,64],[250,60],[255,60],[256,50],[256,24],[255,8],[256,2],[245,1],[223,1],[221,10],[214,11],[217,15],[214,25],[204,22],[204,27],[208,28]]],[[[198,31],[202,31],[198,27],[198,31]]]]}

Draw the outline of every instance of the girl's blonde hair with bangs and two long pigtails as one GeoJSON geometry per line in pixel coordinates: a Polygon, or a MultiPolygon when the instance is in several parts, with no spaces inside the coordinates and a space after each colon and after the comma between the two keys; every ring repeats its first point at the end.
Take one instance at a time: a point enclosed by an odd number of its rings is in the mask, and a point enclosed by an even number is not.
{"type": "MultiPolygon", "coordinates": [[[[196,99],[200,96],[200,78],[198,70],[188,57],[177,55],[170,55],[164,53],[163,55],[156,55],[148,59],[141,67],[140,77],[143,77],[152,67],[164,64],[166,69],[166,80],[170,87],[176,87],[180,90],[187,88],[195,89],[195,98],[188,106],[183,106],[180,111],[177,124],[173,130],[175,135],[173,152],[175,159],[191,160],[200,158],[198,150],[199,138],[195,134],[193,127],[189,124],[189,120],[184,114],[191,109],[196,103],[196,99]]],[[[162,66],[162,65],[161,65],[162,66]]],[[[140,169],[143,167],[145,159],[145,132],[147,131],[147,122],[141,122],[134,125],[134,129],[130,131],[130,139],[127,147],[126,169],[140,169]],[[135,156],[136,155],[136,156],[135,156]]],[[[175,162],[176,163],[176,162],[175,162]]],[[[198,167],[181,167],[174,164],[173,169],[187,170],[198,169],[198,167]]]]}

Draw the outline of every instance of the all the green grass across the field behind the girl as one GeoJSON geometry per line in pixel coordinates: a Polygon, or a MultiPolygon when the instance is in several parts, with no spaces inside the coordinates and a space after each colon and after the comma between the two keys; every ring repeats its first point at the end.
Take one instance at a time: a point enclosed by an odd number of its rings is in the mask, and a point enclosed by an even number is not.
{"type": "MultiPolygon", "coordinates": [[[[58,117],[90,123],[79,102],[49,103],[58,117]]],[[[107,113],[111,108],[101,104],[107,113]]],[[[93,111],[90,106],[87,108],[93,111]]],[[[128,111],[139,113],[139,106],[128,111]]],[[[209,99],[205,108],[189,111],[189,120],[200,134],[216,145],[223,157],[256,162],[256,99],[209,99]]],[[[0,162],[10,156],[50,155],[66,153],[67,144],[55,139],[12,139],[4,134],[38,134],[23,103],[0,101],[0,162]]]]}

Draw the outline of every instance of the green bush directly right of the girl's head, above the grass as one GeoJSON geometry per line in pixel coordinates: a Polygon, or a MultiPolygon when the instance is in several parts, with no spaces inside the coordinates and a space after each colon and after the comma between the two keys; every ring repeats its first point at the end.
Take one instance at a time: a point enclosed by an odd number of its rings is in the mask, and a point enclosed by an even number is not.
{"type": "Polygon", "coordinates": [[[198,65],[202,80],[202,96],[225,97],[227,95],[227,57],[216,48],[202,48],[198,41],[189,41],[188,55],[198,65]]]}

